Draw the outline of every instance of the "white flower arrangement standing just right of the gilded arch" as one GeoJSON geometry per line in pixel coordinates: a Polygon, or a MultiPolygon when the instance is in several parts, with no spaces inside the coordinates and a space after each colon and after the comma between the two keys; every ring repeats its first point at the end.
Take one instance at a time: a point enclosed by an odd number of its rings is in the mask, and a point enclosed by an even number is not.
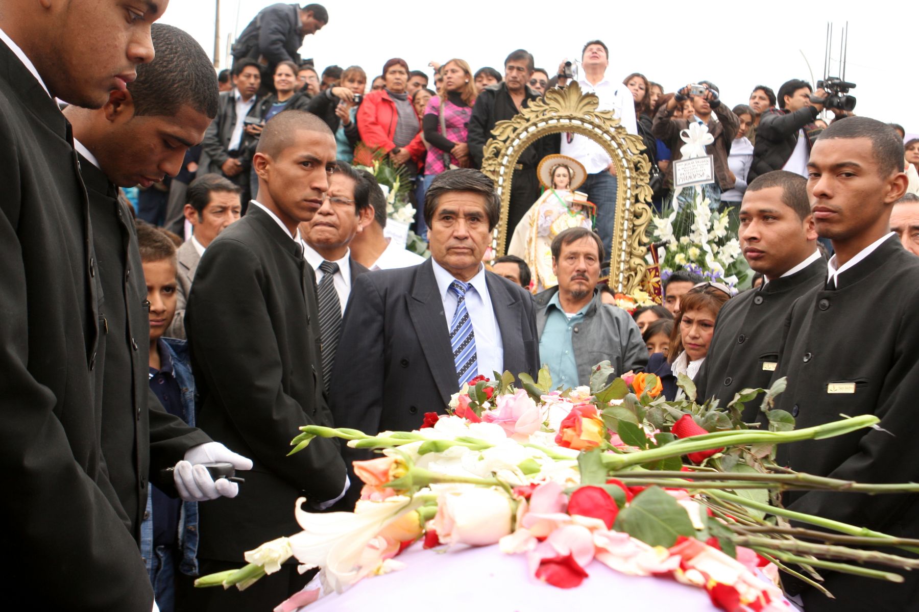
{"type": "Polygon", "coordinates": [[[711,281],[736,284],[743,258],[740,242],[729,228],[731,209],[712,211],[702,190],[696,188],[694,194],[689,206],[674,199],[660,217],[652,217],[662,276],[686,269],[711,281]]]}

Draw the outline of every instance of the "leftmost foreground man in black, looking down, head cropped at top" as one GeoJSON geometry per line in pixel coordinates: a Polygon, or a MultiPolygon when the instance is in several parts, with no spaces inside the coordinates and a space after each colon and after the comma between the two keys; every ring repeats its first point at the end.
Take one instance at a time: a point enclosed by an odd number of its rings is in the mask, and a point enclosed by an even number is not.
{"type": "Polygon", "coordinates": [[[154,607],[100,441],[100,271],[55,98],[100,108],[123,92],[153,60],[150,28],[167,4],[6,0],[0,9],[0,542],[16,551],[0,573],[10,602],[154,607]]]}

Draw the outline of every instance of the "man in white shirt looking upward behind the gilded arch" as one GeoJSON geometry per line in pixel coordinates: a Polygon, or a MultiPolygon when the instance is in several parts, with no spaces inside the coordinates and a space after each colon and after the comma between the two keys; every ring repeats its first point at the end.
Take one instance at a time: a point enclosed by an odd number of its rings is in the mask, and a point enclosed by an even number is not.
{"type": "MultiPolygon", "coordinates": [[[[629,88],[618,80],[607,79],[609,50],[601,40],[591,40],[584,45],[581,57],[584,76],[578,81],[584,94],[596,94],[600,99],[598,110],[611,110],[630,134],[638,134],[635,119],[635,102],[629,88]]],[[[562,136],[562,155],[568,155],[584,164],[587,180],[581,191],[596,204],[596,233],[607,249],[612,247],[613,227],[616,221],[616,195],[618,180],[616,164],[607,151],[595,140],[580,134],[562,136]]]]}

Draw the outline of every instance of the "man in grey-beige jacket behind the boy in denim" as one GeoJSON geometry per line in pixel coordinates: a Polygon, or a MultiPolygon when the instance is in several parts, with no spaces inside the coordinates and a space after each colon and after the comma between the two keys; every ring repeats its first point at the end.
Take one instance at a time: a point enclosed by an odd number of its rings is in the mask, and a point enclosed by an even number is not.
{"type": "Polygon", "coordinates": [[[240,193],[239,186],[213,172],[199,175],[188,186],[187,204],[183,212],[191,224],[192,235],[176,250],[176,316],[166,330],[166,337],[185,339],[185,305],[198,270],[198,262],[210,242],[231,223],[239,220],[243,210],[239,201],[240,193]]]}

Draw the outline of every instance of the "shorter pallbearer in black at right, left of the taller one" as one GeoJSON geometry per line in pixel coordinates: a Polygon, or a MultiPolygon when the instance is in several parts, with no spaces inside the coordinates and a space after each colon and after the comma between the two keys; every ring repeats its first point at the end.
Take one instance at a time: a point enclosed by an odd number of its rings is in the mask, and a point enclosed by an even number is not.
{"type": "MultiPolygon", "coordinates": [[[[709,357],[696,377],[698,397],[715,397],[722,408],[743,389],[768,387],[791,305],[826,276],[807,181],[799,174],[757,176],[743,195],[740,221],[743,256],[765,282],[721,308],[709,357]]],[[[756,420],[759,405],[759,399],[746,405],[746,422],[756,420]]]]}

